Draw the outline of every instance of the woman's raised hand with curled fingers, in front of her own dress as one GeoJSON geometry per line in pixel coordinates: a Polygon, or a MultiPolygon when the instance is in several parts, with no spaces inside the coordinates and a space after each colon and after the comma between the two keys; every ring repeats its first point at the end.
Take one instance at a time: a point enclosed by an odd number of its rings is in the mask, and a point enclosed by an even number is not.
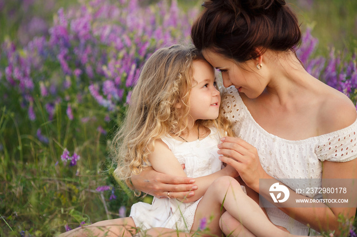
{"type": "Polygon", "coordinates": [[[270,176],[264,171],[259,161],[256,147],[237,137],[223,137],[218,144],[219,159],[234,167],[248,187],[259,192],[259,179],[270,176]]]}

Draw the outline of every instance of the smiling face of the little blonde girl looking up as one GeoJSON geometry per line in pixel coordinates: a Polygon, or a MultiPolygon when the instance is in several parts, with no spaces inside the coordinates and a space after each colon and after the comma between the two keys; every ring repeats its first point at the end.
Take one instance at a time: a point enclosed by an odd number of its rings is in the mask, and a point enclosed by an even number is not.
{"type": "Polygon", "coordinates": [[[193,61],[190,115],[193,120],[214,120],[219,114],[221,96],[216,88],[212,66],[204,60],[193,61]]]}

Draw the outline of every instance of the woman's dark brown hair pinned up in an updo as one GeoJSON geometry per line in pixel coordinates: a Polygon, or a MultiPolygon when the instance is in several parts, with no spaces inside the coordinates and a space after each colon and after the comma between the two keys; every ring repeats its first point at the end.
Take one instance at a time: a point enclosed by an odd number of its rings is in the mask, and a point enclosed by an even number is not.
{"type": "Polygon", "coordinates": [[[297,17],[284,0],[211,0],[202,6],[191,29],[199,50],[245,62],[266,49],[295,51],[300,42],[297,17]]]}

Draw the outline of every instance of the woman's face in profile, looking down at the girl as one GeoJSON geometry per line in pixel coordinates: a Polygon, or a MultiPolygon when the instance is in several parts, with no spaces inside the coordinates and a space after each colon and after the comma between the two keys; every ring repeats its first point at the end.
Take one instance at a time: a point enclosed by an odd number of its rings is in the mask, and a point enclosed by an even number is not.
{"type": "Polygon", "coordinates": [[[232,60],[210,49],[203,50],[203,56],[216,69],[222,73],[223,85],[229,87],[234,85],[240,93],[244,93],[248,98],[260,96],[267,82],[254,70],[257,69],[253,60],[247,61],[244,69],[232,60]]]}

